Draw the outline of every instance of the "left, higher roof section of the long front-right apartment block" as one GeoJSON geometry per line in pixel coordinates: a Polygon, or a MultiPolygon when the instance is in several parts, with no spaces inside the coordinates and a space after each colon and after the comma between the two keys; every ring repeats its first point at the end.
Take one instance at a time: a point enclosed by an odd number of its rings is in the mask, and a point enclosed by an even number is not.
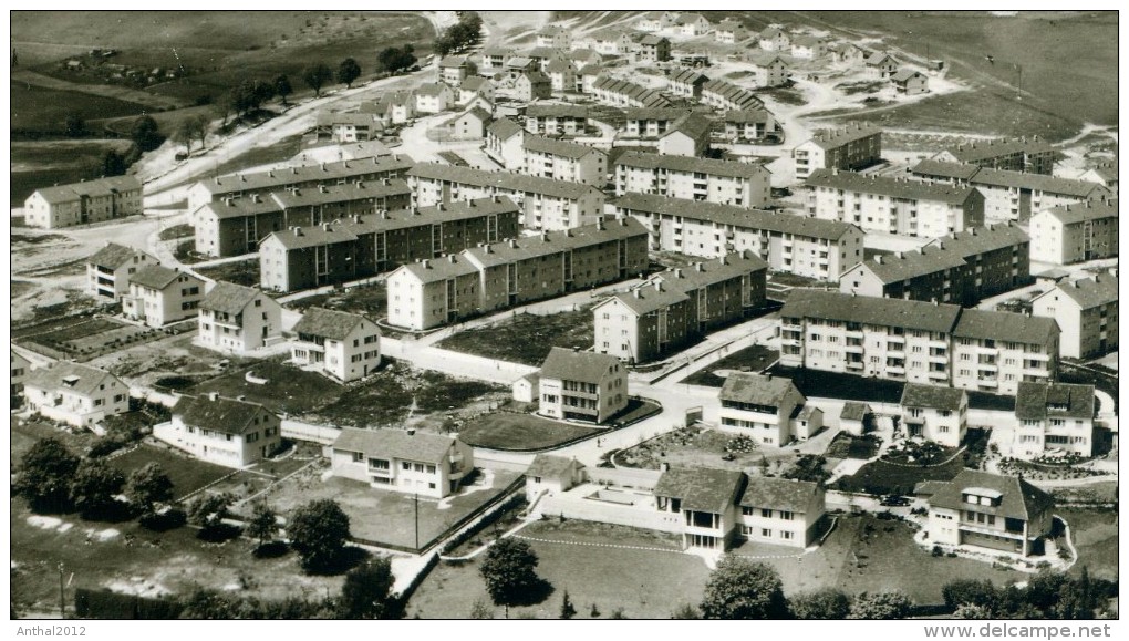
{"type": "Polygon", "coordinates": [[[794,289],[780,309],[784,318],[824,318],[867,325],[949,333],[961,308],[900,298],[872,298],[820,289],[794,289]]]}

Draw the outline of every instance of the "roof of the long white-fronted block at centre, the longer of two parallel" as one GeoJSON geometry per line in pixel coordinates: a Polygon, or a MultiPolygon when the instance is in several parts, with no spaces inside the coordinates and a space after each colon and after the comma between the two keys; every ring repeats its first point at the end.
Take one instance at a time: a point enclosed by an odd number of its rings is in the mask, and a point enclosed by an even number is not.
{"type": "Polygon", "coordinates": [[[854,225],[839,222],[838,220],[745,209],[732,204],[706,201],[672,199],[659,194],[628,192],[616,199],[614,204],[616,208],[627,211],[681,216],[717,225],[732,225],[742,229],[765,229],[806,238],[825,238],[829,240],[838,240],[850,229],[855,228],[854,225]]]}

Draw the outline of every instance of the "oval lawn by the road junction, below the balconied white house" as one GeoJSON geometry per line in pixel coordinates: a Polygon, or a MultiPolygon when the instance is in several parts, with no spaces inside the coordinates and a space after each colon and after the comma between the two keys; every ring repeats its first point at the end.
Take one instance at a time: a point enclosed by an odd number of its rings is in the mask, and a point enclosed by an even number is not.
{"type": "Polygon", "coordinates": [[[530,451],[594,437],[604,431],[532,414],[497,413],[474,419],[458,432],[458,438],[475,447],[530,451]]]}

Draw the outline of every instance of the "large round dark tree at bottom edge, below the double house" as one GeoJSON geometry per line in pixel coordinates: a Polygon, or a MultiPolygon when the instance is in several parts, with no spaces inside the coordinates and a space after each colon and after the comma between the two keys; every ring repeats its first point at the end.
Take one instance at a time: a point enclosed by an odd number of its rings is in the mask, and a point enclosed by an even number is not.
{"type": "Polygon", "coordinates": [[[703,618],[785,618],[788,604],[776,569],[730,554],[710,573],[701,611],[703,618]]]}

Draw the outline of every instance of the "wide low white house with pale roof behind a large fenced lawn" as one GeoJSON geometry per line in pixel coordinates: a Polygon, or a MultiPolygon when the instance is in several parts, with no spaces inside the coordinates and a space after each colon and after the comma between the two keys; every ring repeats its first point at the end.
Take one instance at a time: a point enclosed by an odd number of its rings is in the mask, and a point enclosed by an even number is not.
{"type": "Polygon", "coordinates": [[[415,430],[344,428],[330,447],[334,476],[432,499],[457,493],[474,469],[471,446],[415,430]]]}

